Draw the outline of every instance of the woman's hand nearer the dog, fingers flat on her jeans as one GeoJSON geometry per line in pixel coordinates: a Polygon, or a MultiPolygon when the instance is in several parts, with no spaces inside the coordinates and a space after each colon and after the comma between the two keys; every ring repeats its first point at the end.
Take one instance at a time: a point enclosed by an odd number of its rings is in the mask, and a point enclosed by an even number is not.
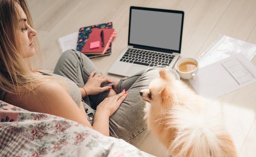
{"type": "Polygon", "coordinates": [[[104,112],[104,114],[107,113],[110,117],[116,112],[127,95],[128,91],[125,92],[125,90],[123,90],[123,92],[116,94],[115,96],[105,98],[99,105],[97,105],[96,112],[104,112]]]}

